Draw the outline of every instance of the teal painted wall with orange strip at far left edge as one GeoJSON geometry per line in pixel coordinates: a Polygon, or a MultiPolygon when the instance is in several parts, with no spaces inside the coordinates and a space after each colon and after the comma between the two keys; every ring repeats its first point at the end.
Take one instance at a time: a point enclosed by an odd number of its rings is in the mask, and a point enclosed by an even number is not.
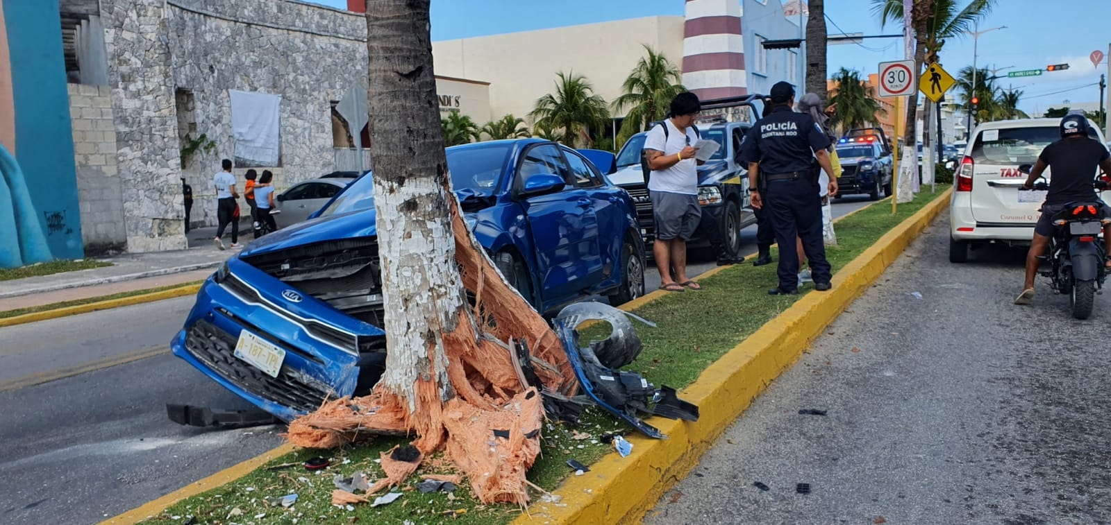
{"type": "Polygon", "coordinates": [[[84,255],[60,23],[0,0],[0,267],[84,255]]]}

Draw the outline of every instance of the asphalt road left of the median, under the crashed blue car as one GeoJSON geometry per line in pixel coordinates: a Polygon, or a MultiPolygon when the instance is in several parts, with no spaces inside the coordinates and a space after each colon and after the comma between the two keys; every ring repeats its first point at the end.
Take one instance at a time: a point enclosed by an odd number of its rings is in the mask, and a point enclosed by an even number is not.
{"type": "MultiPolygon", "coordinates": [[[[847,198],[833,213],[865,204],[847,198]]],[[[742,235],[745,251],[755,251],[755,226],[742,235]]],[[[715,266],[707,253],[694,255],[702,259],[690,275],[715,266]]],[[[648,290],[659,283],[649,269],[648,290]]],[[[168,353],[192,302],[0,329],[0,523],[97,523],[281,443],[276,427],[200,430],[167,420],[168,402],[247,407],[168,353]]]]}

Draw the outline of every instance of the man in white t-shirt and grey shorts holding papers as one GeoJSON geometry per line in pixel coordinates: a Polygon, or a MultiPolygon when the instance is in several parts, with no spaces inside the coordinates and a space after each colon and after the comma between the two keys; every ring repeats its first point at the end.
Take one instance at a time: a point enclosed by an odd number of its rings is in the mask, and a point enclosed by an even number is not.
{"type": "Polygon", "coordinates": [[[652,127],[644,138],[644,158],[651,173],[648,190],[655,220],[652,255],[660,271],[660,290],[701,290],[687,277],[687,241],[694,235],[702,208],[698,203],[698,142],[694,118],[702,109],[691,92],[675,95],[670,118],[652,127]],[[674,275],[671,270],[674,269],[674,275]]]}

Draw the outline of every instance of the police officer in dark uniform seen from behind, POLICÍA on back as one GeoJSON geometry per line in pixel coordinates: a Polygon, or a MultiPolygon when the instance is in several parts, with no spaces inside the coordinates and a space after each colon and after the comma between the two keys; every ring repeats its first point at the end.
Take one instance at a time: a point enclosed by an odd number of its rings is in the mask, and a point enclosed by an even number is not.
{"type": "Polygon", "coordinates": [[[799,254],[791,250],[795,236],[812,267],[814,289],[829,290],[832,272],[825,260],[822,242],[822,206],[818,193],[818,172],[812,169],[817,158],[829,175],[829,194],[837,194],[837,178],[825,148],[830,140],[809,114],[795,113],[794,88],[777,82],[771,88],[774,109],[752,127],[749,160],[749,183],[755,190],[753,208],[768,206],[779,251],[779,286],[772,295],[799,293],[799,254]]]}

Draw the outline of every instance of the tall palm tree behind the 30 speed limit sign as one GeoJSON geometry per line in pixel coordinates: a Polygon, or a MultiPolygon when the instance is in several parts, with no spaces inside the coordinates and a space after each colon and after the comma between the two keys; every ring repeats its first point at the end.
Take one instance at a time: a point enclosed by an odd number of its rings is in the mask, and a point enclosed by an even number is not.
{"type": "MultiPolygon", "coordinates": [[[[915,32],[915,71],[922,71],[923,63],[937,62],[945,40],[964,37],[994,4],[995,0],[914,0],[911,26],[915,32]],[[960,4],[965,1],[961,8],[960,4]]],[[[881,24],[902,21],[905,14],[903,0],[872,0],[872,11],[880,16],[881,24]]],[[[914,142],[917,112],[918,91],[911,93],[907,104],[907,133],[903,138],[907,144],[914,142]]]]}

